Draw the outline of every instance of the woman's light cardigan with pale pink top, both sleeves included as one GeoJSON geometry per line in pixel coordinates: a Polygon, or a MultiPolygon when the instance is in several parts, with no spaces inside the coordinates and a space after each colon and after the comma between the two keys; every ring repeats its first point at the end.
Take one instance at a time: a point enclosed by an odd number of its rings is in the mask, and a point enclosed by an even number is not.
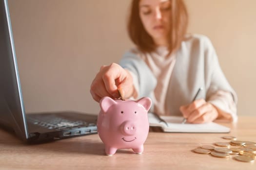
{"type": "Polygon", "coordinates": [[[132,49],[124,54],[120,65],[133,75],[138,98],[150,97],[150,111],[158,115],[181,116],[179,107],[191,103],[203,87],[197,99],[218,107],[222,119],[236,121],[236,92],[219,66],[211,41],[199,34],[187,37],[172,56],[166,56],[166,47],[151,53],[132,49]]]}

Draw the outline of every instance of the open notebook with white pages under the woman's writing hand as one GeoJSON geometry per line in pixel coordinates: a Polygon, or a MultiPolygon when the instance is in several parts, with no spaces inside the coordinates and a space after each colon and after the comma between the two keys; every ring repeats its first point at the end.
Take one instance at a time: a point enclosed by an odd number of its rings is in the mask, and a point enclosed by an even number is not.
{"type": "Polygon", "coordinates": [[[230,128],[217,124],[215,122],[203,124],[182,124],[183,117],[177,116],[158,116],[148,113],[149,125],[161,127],[164,132],[183,132],[183,133],[229,133],[230,128]]]}

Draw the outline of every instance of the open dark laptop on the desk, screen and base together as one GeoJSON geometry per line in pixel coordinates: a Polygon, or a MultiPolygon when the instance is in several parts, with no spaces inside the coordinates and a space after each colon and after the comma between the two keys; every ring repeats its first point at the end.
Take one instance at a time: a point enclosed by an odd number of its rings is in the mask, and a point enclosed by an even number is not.
{"type": "Polygon", "coordinates": [[[78,112],[26,114],[8,1],[0,0],[0,127],[29,142],[97,133],[97,116],[78,112]]]}

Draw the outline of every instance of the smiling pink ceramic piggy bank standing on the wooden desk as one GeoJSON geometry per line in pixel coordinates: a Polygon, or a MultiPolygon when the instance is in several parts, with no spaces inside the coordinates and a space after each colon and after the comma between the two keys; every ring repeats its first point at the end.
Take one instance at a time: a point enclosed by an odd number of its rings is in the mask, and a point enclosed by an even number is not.
{"type": "Polygon", "coordinates": [[[151,99],[145,97],[138,101],[122,101],[104,97],[99,104],[101,110],[97,128],[106,154],[113,155],[118,149],[133,149],[135,153],[142,153],[149,132],[147,113],[151,99]]]}

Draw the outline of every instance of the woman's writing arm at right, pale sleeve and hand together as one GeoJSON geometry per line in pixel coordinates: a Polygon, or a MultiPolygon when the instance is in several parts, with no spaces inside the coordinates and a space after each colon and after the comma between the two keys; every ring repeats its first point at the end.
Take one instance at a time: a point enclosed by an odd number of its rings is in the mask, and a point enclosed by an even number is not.
{"type": "Polygon", "coordinates": [[[204,61],[205,100],[196,100],[180,107],[188,122],[203,123],[215,119],[236,121],[236,93],[225,78],[212,43],[207,37],[200,40],[198,51],[204,61]]]}

